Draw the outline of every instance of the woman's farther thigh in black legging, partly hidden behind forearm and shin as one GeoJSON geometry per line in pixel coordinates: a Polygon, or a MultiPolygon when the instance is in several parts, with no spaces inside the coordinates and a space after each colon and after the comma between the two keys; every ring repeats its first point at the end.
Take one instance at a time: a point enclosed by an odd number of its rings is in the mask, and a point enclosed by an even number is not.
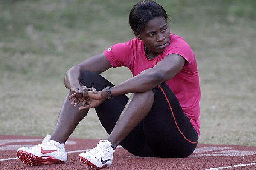
{"type": "MultiPolygon", "coordinates": [[[[91,71],[81,72],[80,81],[88,88],[94,87],[96,91],[101,91],[106,86],[114,86],[101,75],[91,71]]],[[[112,132],[127,102],[128,97],[123,94],[115,96],[111,100],[105,100],[101,105],[95,108],[99,120],[108,134],[112,132]]],[[[120,145],[136,156],[155,156],[145,140],[143,122],[140,122],[131,133],[125,137],[120,145]]]]}

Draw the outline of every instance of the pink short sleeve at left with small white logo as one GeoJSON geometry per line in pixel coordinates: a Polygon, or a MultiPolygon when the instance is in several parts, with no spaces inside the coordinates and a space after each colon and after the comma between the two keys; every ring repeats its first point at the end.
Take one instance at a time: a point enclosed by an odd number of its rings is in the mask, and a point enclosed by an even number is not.
{"type": "Polygon", "coordinates": [[[121,66],[128,67],[130,52],[130,45],[128,42],[126,42],[112,45],[103,53],[105,54],[111,65],[116,68],[121,66]]]}

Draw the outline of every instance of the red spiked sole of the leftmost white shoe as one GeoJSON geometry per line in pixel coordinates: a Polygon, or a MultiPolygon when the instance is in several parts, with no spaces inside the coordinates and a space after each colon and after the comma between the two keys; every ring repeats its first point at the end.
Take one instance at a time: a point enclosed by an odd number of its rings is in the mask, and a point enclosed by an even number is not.
{"type": "Polygon", "coordinates": [[[34,165],[47,165],[47,164],[64,164],[64,161],[56,159],[52,156],[35,156],[32,153],[28,153],[25,151],[18,151],[17,156],[20,161],[24,162],[26,165],[34,166],[34,165]]]}

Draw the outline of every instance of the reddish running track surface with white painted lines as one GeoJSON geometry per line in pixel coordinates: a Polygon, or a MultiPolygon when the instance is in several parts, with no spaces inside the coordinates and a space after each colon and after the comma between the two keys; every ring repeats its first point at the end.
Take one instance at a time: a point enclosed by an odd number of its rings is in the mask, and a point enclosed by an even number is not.
{"type": "MultiPolygon", "coordinates": [[[[98,139],[74,139],[66,143],[68,161],[61,165],[29,167],[17,159],[20,146],[40,144],[43,137],[0,135],[0,170],[86,170],[78,155],[81,150],[91,149],[98,139]]],[[[256,170],[256,147],[236,145],[198,144],[187,158],[136,157],[122,147],[116,149],[113,164],[105,170],[256,170]]]]}

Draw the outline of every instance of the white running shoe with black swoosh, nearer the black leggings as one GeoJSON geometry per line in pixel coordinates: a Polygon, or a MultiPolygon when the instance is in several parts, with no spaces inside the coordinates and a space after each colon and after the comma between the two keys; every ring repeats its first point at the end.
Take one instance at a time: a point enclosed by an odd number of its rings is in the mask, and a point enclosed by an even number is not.
{"type": "Polygon", "coordinates": [[[79,154],[79,159],[83,164],[87,164],[96,170],[109,167],[112,164],[114,150],[108,140],[100,140],[99,144],[88,152],[79,154]]]}

